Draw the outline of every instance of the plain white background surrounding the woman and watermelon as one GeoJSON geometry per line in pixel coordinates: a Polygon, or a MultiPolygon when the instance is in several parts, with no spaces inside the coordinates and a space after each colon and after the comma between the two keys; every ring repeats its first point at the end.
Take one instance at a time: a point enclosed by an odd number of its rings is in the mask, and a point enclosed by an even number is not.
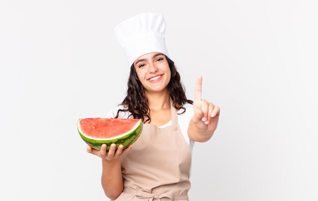
{"type": "Polygon", "coordinates": [[[189,99],[221,108],[193,150],[191,200],[318,200],[316,1],[4,1],[0,3],[1,200],[108,200],[79,118],[125,95],[113,33],[162,13],[189,99]],[[5,198],[5,199],[4,199],[5,198]]]}

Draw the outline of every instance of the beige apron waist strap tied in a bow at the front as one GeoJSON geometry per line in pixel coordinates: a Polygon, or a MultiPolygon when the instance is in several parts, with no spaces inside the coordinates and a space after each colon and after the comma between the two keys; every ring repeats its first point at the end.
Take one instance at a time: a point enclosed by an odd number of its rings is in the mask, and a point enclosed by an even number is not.
{"type": "Polygon", "coordinates": [[[125,187],[122,192],[135,195],[136,197],[139,197],[142,199],[148,198],[148,201],[153,201],[153,200],[173,201],[173,200],[180,200],[180,199],[188,199],[187,195],[173,195],[171,193],[163,193],[161,195],[154,195],[145,191],[136,190],[136,189],[127,188],[127,187],[125,187]]]}

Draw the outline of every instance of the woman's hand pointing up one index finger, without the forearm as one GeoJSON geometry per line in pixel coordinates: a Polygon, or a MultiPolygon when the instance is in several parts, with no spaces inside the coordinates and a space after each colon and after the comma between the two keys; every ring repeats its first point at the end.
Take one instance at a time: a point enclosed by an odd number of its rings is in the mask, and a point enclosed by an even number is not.
{"type": "Polygon", "coordinates": [[[201,99],[202,76],[197,78],[194,97],[194,117],[192,121],[201,134],[213,134],[218,123],[220,109],[211,102],[201,99]]]}

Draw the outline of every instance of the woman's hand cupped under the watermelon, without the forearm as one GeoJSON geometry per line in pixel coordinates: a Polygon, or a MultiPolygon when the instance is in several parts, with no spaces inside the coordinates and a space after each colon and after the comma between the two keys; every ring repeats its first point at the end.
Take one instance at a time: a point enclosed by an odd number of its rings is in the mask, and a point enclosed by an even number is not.
{"type": "Polygon", "coordinates": [[[133,148],[132,146],[129,146],[128,148],[123,150],[123,146],[119,145],[118,149],[115,150],[116,145],[115,145],[115,143],[112,143],[108,152],[106,151],[107,150],[106,144],[102,145],[101,150],[93,149],[89,145],[87,145],[86,151],[90,154],[99,156],[102,160],[114,161],[114,160],[118,160],[121,155],[131,151],[132,148],[133,148]]]}

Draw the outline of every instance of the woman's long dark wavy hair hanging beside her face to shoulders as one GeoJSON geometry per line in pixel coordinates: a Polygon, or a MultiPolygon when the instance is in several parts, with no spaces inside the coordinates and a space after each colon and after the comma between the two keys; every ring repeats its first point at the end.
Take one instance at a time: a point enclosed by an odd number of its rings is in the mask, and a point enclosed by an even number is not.
{"type": "MultiPolygon", "coordinates": [[[[185,112],[185,107],[183,105],[185,103],[193,104],[192,100],[186,99],[184,85],[180,81],[180,74],[177,71],[174,62],[166,56],[166,59],[169,64],[169,68],[171,71],[171,78],[168,83],[168,92],[173,101],[173,107],[176,109],[183,109],[183,111],[179,114],[185,112]]],[[[138,79],[134,64],[130,69],[130,76],[128,79],[128,90],[127,96],[123,99],[122,103],[119,105],[123,105],[123,109],[118,109],[116,117],[118,118],[120,111],[129,111],[134,119],[142,119],[144,123],[151,122],[150,118],[150,108],[148,106],[148,99],[144,95],[144,88],[141,82],[138,79]],[[144,117],[147,119],[144,121],[144,117]]]]}

